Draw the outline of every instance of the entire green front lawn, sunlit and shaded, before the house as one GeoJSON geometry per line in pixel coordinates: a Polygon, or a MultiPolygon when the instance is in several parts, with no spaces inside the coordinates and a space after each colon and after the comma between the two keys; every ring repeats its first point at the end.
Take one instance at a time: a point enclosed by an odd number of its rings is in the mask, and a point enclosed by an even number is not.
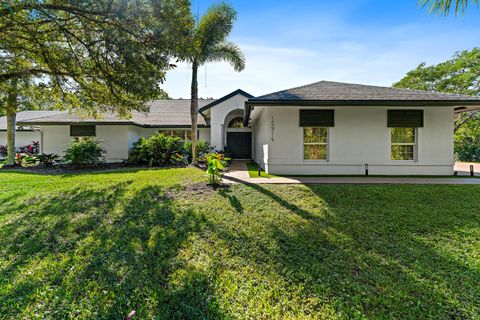
{"type": "Polygon", "coordinates": [[[478,319],[480,186],[0,173],[2,319],[478,319]]]}

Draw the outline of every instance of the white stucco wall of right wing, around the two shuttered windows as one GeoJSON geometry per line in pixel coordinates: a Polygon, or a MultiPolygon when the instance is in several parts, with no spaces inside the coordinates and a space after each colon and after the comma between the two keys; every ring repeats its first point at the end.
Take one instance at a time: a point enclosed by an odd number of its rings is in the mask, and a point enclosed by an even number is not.
{"type": "MultiPolygon", "coordinates": [[[[303,129],[300,107],[270,107],[273,130],[267,130],[266,170],[273,174],[370,174],[451,175],[453,174],[453,108],[423,109],[425,126],[418,128],[418,155],[415,161],[390,159],[390,129],[387,110],[392,107],[330,107],[335,110],[335,127],[329,129],[327,161],[303,160],[303,129]]],[[[259,118],[260,119],[260,118],[259,118]]],[[[263,124],[264,120],[261,121],[263,124]]],[[[264,143],[259,121],[255,121],[256,150],[264,143]],[[259,144],[259,145],[257,145],[259,144]]],[[[263,138],[264,139],[264,138],[263,138]]],[[[262,146],[264,148],[264,146],[262,146]]],[[[265,152],[264,152],[265,153],[265,152]]],[[[256,156],[261,157],[261,155],[256,156]]],[[[257,160],[258,161],[258,160],[257,160]]]]}

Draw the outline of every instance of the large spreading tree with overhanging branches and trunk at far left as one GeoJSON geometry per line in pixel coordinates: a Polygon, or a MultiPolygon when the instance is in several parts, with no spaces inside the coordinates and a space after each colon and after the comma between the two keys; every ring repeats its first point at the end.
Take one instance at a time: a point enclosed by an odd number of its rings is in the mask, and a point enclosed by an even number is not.
{"type": "Polygon", "coordinates": [[[188,0],[13,0],[2,8],[0,109],[10,150],[20,82],[44,81],[44,97],[62,109],[145,111],[147,100],[162,95],[171,44],[187,34],[190,19],[188,0]]]}

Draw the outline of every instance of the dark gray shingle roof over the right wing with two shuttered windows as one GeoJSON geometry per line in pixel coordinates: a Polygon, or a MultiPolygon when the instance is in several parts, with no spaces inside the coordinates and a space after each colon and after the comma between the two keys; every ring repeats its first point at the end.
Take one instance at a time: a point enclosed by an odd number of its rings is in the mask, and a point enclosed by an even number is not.
{"type": "Polygon", "coordinates": [[[320,81],[270,93],[249,99],[249,101],[472,101],[480,103],[480,98],[458,94],[320,81]]]}

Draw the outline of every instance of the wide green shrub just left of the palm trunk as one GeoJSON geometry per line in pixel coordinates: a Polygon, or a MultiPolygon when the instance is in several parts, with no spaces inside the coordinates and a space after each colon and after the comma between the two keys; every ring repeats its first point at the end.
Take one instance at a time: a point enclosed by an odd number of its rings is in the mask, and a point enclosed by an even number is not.
{"type": "Polygon", "coordinates": [[[141,137],[133,144],[128,155],[129,163],[164,166],[176,163],[177,153],[182,152],[181,139],[155,133],[149,138],[141,137]]]}

